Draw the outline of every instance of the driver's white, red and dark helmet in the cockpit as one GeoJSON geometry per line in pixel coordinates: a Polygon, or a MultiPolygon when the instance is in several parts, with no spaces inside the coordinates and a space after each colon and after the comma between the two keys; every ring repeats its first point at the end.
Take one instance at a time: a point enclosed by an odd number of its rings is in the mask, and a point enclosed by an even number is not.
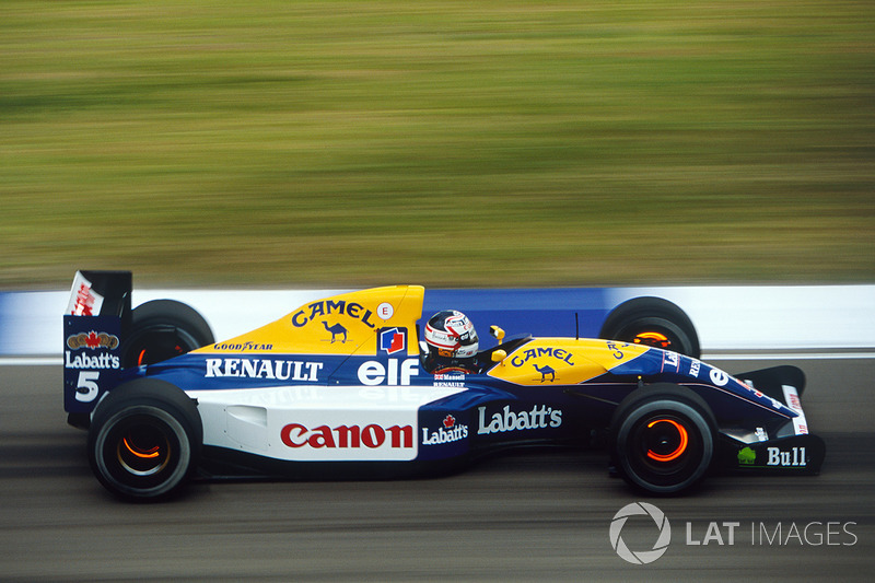
{"type": "Polygon", "coordinates": [[[425,360],[433,370],[469,368],[479,349],[477,330],[462,312],[438,312],[425,324],[425,360]]]}

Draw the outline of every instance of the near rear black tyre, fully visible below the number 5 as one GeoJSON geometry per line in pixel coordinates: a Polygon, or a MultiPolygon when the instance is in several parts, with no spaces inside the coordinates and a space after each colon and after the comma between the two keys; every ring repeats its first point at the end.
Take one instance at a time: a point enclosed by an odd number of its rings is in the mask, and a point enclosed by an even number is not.
{"type": "Polygon", "coordinates": [[[89,462],[100,482],[129,501],[178,493],[197,467],[203,425],[195,401],[163,381],[121,385],[97,406],[89,462]]]}

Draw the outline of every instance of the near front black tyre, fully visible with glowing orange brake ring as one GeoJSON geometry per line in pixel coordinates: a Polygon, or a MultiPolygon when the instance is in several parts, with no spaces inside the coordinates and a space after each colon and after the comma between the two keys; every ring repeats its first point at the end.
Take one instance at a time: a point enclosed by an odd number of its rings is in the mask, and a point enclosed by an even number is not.
{"type": "Polygon", "coordinates": [[[686,387],[655,384],[623,399],[610,422],[612,463],[631,486],[670,495],[701,482],[714,458],[716,423],[686,387]]]}

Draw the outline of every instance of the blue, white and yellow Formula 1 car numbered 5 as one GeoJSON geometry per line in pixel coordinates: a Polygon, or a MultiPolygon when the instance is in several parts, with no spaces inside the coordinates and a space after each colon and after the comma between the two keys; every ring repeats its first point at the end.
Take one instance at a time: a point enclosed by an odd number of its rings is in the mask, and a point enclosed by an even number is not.
{"type": "Polygon", "coordinates": [[[817,474],[825,456],[793,366],[732,376],[656,346],[493,327],[475,372],[434,373],[418,285],[326,298],[220,342],[191,307],[131,310],[130,292],[130,272],[78,272],[63,318],[69,422],[127,500],[191,478],[440,475],[529,444],[605,444],[614,474],[657,495],[713,471],[817,474]]]}

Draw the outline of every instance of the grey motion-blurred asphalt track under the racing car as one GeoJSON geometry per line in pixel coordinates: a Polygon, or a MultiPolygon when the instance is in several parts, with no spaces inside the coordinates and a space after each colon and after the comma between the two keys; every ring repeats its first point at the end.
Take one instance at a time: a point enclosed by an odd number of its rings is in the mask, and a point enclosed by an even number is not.
{"type": "MultiPolygon", "coordinates": [[[[778,363],[792,361],[718,364],[778,363]]],[[[60,365],[0,366],[0,580],[873,581],[875,359],[795,363],[827,443],[817,477],[718,477],[642,499],[603,454],[537,450],[436,479],[198,483],[162,504],[117,502],[91,475],[60,365]],[[672,527],[649,564],[609,540],[638,500],[672,527]]],[[[621,529],[635,551],[657,535],[646,516],[621,529]]]]}

